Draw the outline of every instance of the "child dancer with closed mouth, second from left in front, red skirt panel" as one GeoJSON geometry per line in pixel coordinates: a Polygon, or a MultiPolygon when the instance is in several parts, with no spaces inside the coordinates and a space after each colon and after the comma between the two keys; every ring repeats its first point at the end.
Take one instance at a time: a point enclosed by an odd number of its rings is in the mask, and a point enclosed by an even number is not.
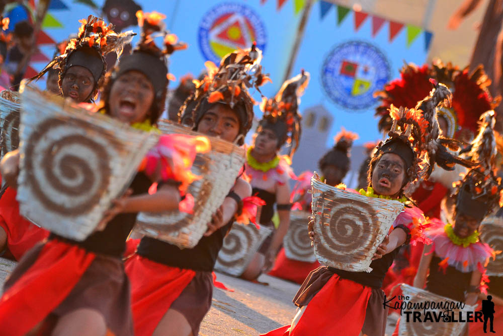
{"type": "MultiPolygon", "coordinates": [[[[193,128],[205,135],[242,145],[254,115],[247,87],[263,83],[261,58],[262,52],[254,45],[225,56],[219,68],[207,62],[208,75],[197,82],[195,95],[182,106],[182,118],[191,119],[193,128]],[[192,111],[187,106],[195,107],[192,111]],[[183,116],[187,113],[192,117],[183,116]]],[[[240,215],[243,199],[250,195],[249,184],[238,177],[193,248],[141,239],[137,252],[126,261],[137,336],[199,333],[211,306],[212,271],[223,238],[240,215]]]]}

